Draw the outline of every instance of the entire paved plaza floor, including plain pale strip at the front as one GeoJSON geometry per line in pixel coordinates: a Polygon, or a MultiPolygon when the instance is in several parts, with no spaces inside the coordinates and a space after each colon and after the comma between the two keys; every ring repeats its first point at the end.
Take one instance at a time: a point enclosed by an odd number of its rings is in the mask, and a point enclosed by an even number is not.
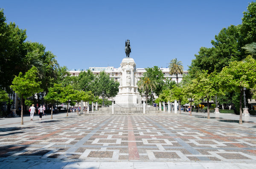
{"type": "Polygon", "coordinates": [[[0,168],[255,168],[256,117],[206,115],[1,118],[0,168]]]}

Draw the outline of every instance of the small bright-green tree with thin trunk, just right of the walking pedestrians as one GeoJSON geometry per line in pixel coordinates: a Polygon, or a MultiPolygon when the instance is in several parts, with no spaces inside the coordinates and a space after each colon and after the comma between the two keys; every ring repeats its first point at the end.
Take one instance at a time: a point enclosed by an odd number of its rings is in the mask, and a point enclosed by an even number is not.
{"type": "Polygon", "coordinates": [[[47,95],[44,97],[46,101],[52,104],[52,110],[51,110],[51,119],[52,119],[52,111],[53,111],[53,104],[55,101],[60,100],[60,95],[62,92],[63,88],[61,87],[60,84],[54,84],[53,87],[49,87],[47,95]]]}

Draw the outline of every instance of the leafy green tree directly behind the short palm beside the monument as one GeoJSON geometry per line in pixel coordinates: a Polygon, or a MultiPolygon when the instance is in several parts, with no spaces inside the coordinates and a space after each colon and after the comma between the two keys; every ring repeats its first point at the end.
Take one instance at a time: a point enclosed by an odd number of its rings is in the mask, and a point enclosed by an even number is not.
{"type": "Polygon", "coordinates": [[[149,74],[149,77],[156,81],[156,87],[153,89],[153,92],[159,96],[164,85],[164,76],[162,70],[160,70],[158,66],[154,66],[153,68],[145,68],[145,70],[149,74]]]}

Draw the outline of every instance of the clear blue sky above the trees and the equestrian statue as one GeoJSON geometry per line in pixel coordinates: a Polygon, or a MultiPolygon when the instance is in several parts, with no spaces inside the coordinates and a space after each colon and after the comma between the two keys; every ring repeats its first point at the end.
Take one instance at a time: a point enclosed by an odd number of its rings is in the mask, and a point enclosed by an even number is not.
{"type": "Polygon", "coordinates": [[[3,0],[7,23],[26,29],[69,69],[113,66],[130,39],[137,68],[167,67],[177,58],[184,70],[199,49],[211,47],[222,28],[241,24],[252,0],[3,0]]]}

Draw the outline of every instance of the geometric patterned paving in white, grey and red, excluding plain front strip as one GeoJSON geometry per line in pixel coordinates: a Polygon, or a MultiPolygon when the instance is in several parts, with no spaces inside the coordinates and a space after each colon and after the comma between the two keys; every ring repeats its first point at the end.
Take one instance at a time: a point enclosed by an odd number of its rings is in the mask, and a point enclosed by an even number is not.
{"type": "Polygon", "coordinates": [[[0,162],[256,162],[256,129],[188,115],[72,116],[0,127],[0,162]]]}

